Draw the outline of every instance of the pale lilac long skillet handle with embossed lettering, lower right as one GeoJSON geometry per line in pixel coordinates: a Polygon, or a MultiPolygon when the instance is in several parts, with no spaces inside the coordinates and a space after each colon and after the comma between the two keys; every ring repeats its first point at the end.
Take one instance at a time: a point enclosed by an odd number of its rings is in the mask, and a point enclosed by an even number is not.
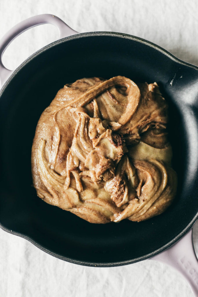
{"type": "Polygon", "coordinates": [[[150,259],[177,269],[186,278],[194,296],[198,296],[198,260],[194,251],[192,228],[172,247],[150,259]]]}

